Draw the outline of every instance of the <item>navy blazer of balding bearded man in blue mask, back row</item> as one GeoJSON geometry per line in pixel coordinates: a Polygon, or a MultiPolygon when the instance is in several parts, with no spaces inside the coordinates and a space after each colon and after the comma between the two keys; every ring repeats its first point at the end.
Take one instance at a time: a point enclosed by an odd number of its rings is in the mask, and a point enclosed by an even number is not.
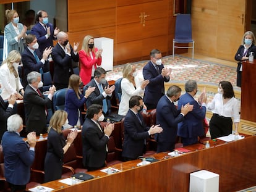
{"type": "Polygon", "coordinates": [[[45,37],[45,35],[47,34],[47,31],[45,30],[45,28],[43,28],[43,26],[39,22],[37,22],[31,30],[31,33],[36,36],[36,39],[39,44],[39,49],[42,54],[43,54],[43,51],[45,51],[45,48],[49,48],[49,46],[53,47],[53,40],[56,40],[56,38],[54,38],[53,36],[54,35],[53,24],[47,23],[46,26],[49,27],[51,31],[51,35],[49,36],[48,39],[46,39],[45,37]]]}

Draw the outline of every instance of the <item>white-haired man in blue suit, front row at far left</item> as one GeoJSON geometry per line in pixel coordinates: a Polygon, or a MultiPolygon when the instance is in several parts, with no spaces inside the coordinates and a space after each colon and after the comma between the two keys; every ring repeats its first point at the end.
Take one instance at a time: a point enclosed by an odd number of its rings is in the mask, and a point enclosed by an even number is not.
{"type": "Polygon", "coordinates": [[[30,167],[35,159],[36,134],[28,133],[25,142],[20,137],[22,129],[23,122],[20,115],[11,115],[7,119],[7,131],[2,136],[4,177],[11,191],[25,190],[30,180],[30,167]]]}

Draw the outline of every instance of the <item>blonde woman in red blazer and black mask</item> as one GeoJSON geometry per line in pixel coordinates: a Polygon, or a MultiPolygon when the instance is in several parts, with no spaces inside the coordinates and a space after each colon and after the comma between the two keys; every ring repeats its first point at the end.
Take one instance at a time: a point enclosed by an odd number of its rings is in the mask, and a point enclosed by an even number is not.
{"type": "Polygon", "coordinates": [[[93,36],[83,38],[82,49],[79,51],[80,74],[83,85],[87,85],[94,78],[94,71],[101,65],[102,49],[94,46],[93,36]]]}

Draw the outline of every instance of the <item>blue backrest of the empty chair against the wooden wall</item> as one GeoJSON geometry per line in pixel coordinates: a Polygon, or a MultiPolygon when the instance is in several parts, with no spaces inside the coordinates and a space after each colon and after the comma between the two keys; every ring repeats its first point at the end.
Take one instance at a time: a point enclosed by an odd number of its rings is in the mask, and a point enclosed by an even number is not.
{"type": "Polygon", "coordinates": [[[174,39],[177,41],[192,40],[192,27],[191,27],[190,14],[177,15],[174,39]]]}

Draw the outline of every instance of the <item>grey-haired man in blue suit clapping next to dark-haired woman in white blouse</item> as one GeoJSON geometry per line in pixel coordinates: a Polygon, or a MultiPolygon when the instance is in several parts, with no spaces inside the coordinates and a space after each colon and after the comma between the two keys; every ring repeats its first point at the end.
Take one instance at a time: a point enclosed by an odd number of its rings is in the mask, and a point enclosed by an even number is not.
{"type": "Polygon", "coordinates": [[[185,120],[178,124],[177,135],[181,136],[184,146],[198,143],[198,136],[204,134],[203,119],[206,114],[207,97],[205,93],[200,96],[200,103],[195,101],[194,96],[197,94],[197,82],[189,80],[185,83],[186,93],[181,96],[178,103],[178,109],[189,103],[194,105],[193,110],[186,115],[185,120]]]}

